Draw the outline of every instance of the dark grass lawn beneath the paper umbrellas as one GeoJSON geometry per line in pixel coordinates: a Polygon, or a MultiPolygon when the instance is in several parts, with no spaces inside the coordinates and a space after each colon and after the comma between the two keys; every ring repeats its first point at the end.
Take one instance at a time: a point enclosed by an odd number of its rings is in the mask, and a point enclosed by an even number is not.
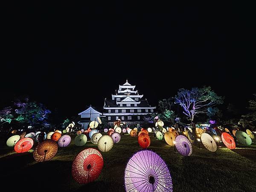
{"type": "MultiPolygon", "coordinates": [[[[124,170],[129,157],[140,150],[138,137],[122,136],[111,151],[102,152],[104,167],[93,183],[80,185],[73,180],[71,167],[73,159],[85,148],[97,148],[90,141],[82,147],[71,144],[59,148],[56,156],[44,163],[33,159],[30,150],[16,154],[13,148],[1,145],[1,183],[9,190],[26,191],[113,191],[125,190],[124,170]]],[[[201,144],[193,145],[190,157],[183,157],[164,140],[157,140],[150,133],[149,149],[157,152],[166,161],[172,175],[173,191],[256,191],[256,140],[248,147],[237,145],[230,150],[222,145],[216,152],[210,152],[201,144]]],[[[3,143],[3,142],[2,142],[3,143]]]]}

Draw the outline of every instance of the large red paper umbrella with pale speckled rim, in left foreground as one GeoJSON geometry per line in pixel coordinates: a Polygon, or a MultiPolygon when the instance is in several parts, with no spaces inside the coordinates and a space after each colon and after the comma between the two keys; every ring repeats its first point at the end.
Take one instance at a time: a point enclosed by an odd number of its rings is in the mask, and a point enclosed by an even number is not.
{"type": "Polygon", "coordinates": [[[102,167],[102,154],[94,148],[87,148],[74,159],[72,176],[78,183],[90,183],[99,177],[102,167]]]}

